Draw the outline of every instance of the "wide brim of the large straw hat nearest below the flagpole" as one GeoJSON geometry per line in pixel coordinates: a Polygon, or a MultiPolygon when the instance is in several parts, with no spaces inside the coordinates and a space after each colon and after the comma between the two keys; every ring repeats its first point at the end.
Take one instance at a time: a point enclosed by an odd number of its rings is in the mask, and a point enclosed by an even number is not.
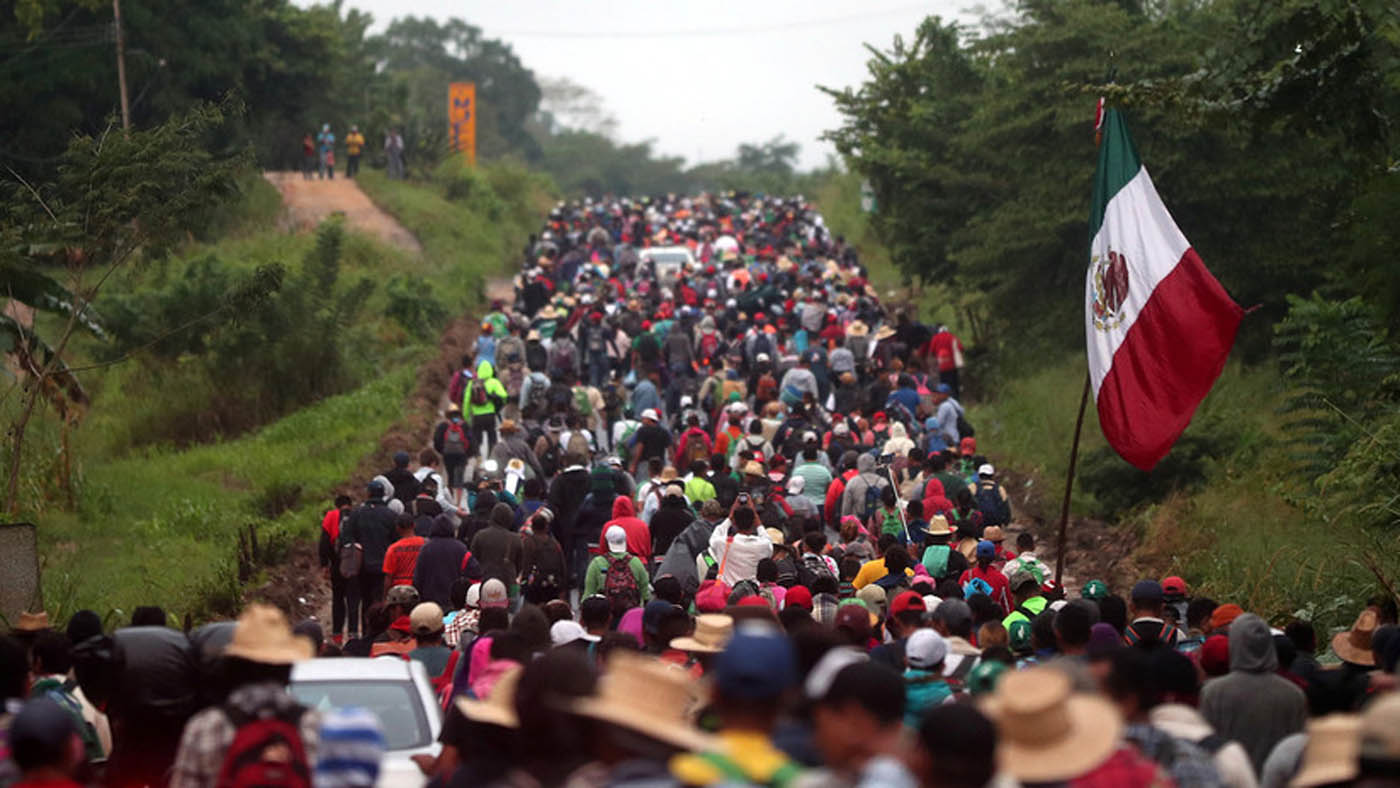
{"type": "MultiPolygon", "coordinates": [[[[1002,736],[997,746],[1000,768],[1022,782],[1057,782],[1085,774],[1107,760],[1123,732],[1123,719],[1113,704],[1075,694],[1065,705],[1070,725],[1060,742],[1026,746],[1002,736]]],[[[995,718],[995,698],[988,698],[984,710],[995,718]]]]}

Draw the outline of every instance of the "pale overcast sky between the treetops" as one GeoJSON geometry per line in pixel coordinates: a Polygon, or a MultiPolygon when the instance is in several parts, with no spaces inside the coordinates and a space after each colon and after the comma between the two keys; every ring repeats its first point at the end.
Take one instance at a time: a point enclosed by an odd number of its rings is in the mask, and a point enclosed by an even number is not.
{"type": "MultiPolygon", "coordinates": [[[[309,3],[305,3],[309,4],[309,3]]],[[[538,77],[568,77],[599,95],[624,141],[657,140],[687,162],[732,155],[777,134],[811,168],[834,153],[839,125],[815,85],[855,85],[862,43],[888,49],[928,14],[970,0],[349,0],[381,28],[393,17],[461,17],[511,43],[538,77]]]]}

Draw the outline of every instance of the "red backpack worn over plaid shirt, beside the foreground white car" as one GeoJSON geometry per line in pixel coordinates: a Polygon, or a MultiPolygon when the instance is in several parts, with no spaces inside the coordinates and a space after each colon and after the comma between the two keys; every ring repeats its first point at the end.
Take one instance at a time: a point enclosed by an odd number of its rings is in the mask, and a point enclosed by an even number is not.
{"type": "Polygon", "coordinates": [[[234,742],[228,745],[218,768],[220,788],[311,788],[311,766],[301,742],[298,722],[305,708],[294,705],[281,715],[249,717],[224,707],[234,724],[234,742]]]}

